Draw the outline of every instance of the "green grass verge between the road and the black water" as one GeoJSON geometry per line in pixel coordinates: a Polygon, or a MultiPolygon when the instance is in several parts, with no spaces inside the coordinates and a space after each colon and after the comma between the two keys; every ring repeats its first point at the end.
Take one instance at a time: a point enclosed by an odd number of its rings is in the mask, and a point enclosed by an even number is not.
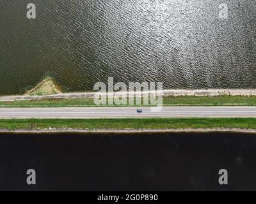
{"type": "Polygon", "coordinates": [[[180,129],[247,128],[256,129],[256,119],[11,119],[0,120],[0,129],[180,129]]]}

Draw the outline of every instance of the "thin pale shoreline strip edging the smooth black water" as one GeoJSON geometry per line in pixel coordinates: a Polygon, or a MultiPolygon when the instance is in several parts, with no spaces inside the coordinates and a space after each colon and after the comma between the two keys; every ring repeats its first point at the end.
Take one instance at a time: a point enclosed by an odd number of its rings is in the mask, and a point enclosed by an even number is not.
{"type": "Polygon", "coordinates": [[[184,128],[184,129],[0,129],[0,133],[256,133],[256,129],[245,128],[184,128]]]}

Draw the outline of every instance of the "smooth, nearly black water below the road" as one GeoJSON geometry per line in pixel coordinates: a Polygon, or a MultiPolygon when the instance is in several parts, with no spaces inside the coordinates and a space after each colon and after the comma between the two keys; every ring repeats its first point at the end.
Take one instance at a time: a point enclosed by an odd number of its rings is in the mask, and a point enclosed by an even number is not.
{"type": "Polygon", "coordinates": [[[0,190],[256,190],[256,137],[0,135],[0,190]],[[36,171],[36,185],[26,171],[36,171]],[[228,170],[228,186],[218,184],[228,170]]]}

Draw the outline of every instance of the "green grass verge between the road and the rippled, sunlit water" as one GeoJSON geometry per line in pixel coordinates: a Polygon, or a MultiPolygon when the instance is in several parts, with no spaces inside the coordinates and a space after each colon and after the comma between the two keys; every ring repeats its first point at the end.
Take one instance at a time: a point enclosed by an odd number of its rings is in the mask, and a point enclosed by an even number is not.
{"type": "MultiPolygon", "coordinates": [[[[163,98],[164,106],[225,106],[225,105],[256,105],[256,96],[166,96],[163,98]]],[[[42,99],[31,101],[0,101],[0,107],[70,107],[70,106],[96,106],[93,98],[75,99],[42,99]]],[[[116,105],[113,105],[116,106],[116,105]]],[[[119,105],[120,106],[120,105],[119,105]]],[[[124,105],[127,106],[127,105],[124,105]]]]}

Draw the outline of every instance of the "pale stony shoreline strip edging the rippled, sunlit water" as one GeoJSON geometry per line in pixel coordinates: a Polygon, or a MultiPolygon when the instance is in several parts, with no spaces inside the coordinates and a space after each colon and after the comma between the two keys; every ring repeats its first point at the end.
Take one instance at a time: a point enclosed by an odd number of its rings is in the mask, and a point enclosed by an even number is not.
{"type": "MultiPolygon", "coordinates": [[[[13,95],[0,96],[0,101],[38,100],[38,99],[74,99],[93,98],[99,92],[65,92],[46,96],[13,95]]],[[[102,96],[107,97],[115,94],[115,97],[122,97],[123,94],[138,94],[138,92],[102,92],[102,96]]],[[[157,94],[158,96],[256,96],[256,89],[166,89],[163,91],[141,91],[139,94],[157,94]]]]}

